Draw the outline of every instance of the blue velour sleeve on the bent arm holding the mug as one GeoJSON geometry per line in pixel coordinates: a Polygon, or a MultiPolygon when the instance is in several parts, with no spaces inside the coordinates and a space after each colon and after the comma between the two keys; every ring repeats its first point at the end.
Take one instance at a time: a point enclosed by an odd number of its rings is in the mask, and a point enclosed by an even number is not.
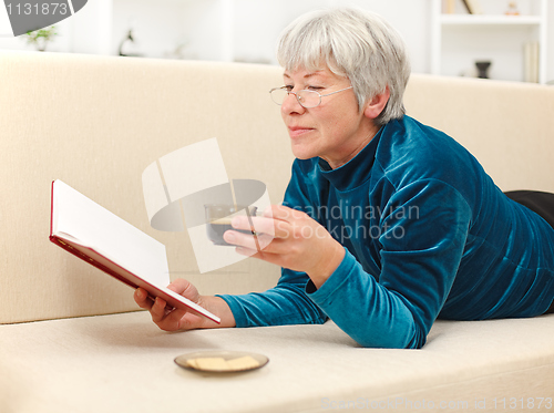
{"type": "Polygon", "coordinates": [[[470,209],[435,180],[410,185],[389,205],[371,226],[382,246],[380,275],[368,273],[347,250],[331,277],[318,290],[308,283],[307,292],[361,345],[421,348],[454,282],[470,209]]]}

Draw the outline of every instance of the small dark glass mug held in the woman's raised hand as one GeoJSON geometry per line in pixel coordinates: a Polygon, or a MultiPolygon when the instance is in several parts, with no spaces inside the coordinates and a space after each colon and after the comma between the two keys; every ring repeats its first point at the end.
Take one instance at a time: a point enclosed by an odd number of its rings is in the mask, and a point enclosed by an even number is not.
{"type": "MultiPolygon", "coordinates": [[[[204,205],[206,211],[206,233],[208,239],[215,245],[233,246],[223,239],[226,230],[233,229],[230,221],[236,215],[256,216],[257,207],[240,206],[240,205],[226,205],[226,204],[207,204],[204,205]],[[247,209],[248,208],[248,209],[247,209]],[[243,211],[244,214],[237,214],[243,211]]],[[[252,234],[252,230],[233,229],[243,234],[252,234]]]]}

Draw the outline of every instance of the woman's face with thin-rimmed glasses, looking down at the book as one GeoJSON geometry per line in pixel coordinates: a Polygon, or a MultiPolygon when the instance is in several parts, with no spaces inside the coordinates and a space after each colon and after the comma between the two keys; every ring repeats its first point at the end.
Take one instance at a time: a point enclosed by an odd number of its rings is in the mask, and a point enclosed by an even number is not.
{"type": "MultiPolygon", "coordinates": [[[[306,89],[325,95],[350,86],[347,78],[327,68],[315,72],[285,71],[284,79],[293,92],[306,89]]],[[[302,107],[296,96],[289,94],[283,102],[281,115],[294,155],[300,159],[319,156],[332,168],[350,161],[379,130],[363,109],[358,107],[352,89],[324,96],[319,106],[310,109],[302,107]]]]}

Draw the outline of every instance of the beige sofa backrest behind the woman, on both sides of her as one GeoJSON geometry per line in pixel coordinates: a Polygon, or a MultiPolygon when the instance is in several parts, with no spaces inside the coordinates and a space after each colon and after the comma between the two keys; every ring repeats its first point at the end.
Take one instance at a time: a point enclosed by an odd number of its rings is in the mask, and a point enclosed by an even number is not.
{"type": "MultiPolygon", "coordinates": [[[[0,323],[137,309],[132,290],[48,239],[62,179],[167,247],[172,278],[202,293],[264,290],[279,268],[246,259],[199,275],[186,233],[152,229],[141,176],[217,137],[230,178],[283,198],[293,155],[268,90],[276,66],[0,52],[0,323]]],[[[503,189],[554,192],[554,89],[413,75],[408,113],[468,146],[503,189]]]]}

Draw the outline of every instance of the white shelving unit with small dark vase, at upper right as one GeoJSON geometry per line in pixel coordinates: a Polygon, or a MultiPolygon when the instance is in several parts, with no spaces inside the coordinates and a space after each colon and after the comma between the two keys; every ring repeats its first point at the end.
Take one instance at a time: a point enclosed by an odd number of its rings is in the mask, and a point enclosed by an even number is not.
{"type": "Polygon", "coordinates": [[[523,81],[523,45],[535,41],[538,83],[546,83],[547,0],[527,0],[521,16],[504,16],[501,7],[507,2],[499,2],[497,9],[486,14],[462,10],[443,14],[442,0],[432,2],[431,73],[460,75],[471,70],[474,61],[491,60],[496,74],[491,78],[523,81]]]}

